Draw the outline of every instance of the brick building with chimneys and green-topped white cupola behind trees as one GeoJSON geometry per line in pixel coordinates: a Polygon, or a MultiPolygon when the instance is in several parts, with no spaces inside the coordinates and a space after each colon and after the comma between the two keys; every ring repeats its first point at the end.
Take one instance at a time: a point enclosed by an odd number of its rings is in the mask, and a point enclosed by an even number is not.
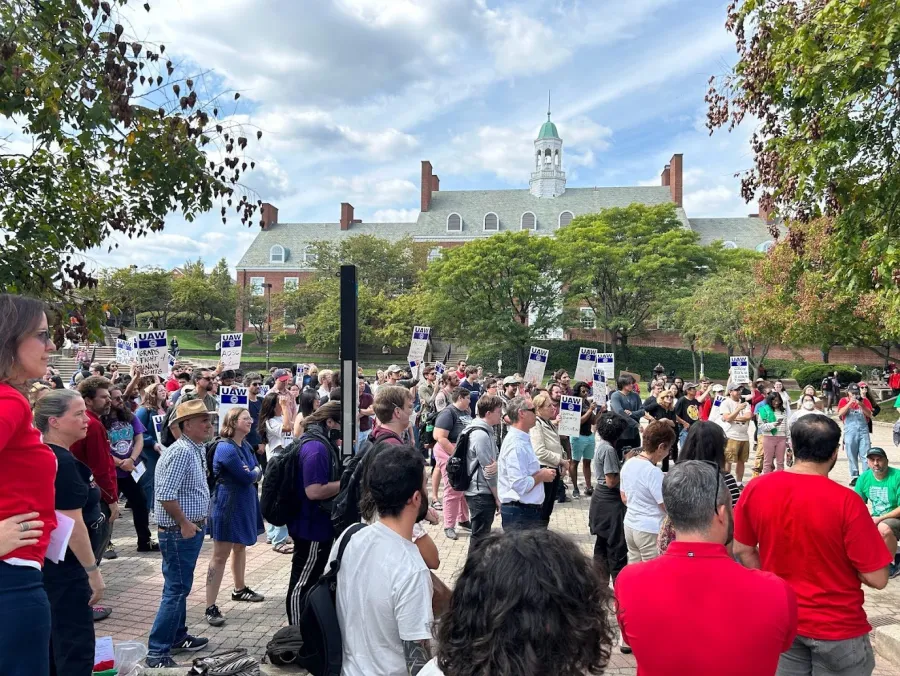
{"type": "MultiPolygon", "coordinates": [[[[419,217],[414,223],[363,223],[346,202],[341,204],[340,220],[334,223],[282,223],[278,209],[264,203],[262,229],[237,264],[237,283],[256,295],[276,294],[299,284],[315,274],[316,241],[338,242],[360,234],[398,240],[409,235],[414,241],[433,244],[431,258],[440,256],[443,248],[508,230],[552,235],[576,216],[634,203],[674,203],[684,227],[698,232],[703,244],[721,240],[726,247],[760,251],[771,246],[764,216],[689,218],[682,205],[683,163],[681,154],[673,155],[662,170],[659,186],[569,188],[563,170],[563,141],[548,111],[534,141],[534,167],[527,189],[441,190],[431,162],[425,160],[419,217]]],[[[590,326],[589,320],[583,318],[585,328],[590,326]]],[[[239,304],[235,330],[246,329],[239,304]]]]}

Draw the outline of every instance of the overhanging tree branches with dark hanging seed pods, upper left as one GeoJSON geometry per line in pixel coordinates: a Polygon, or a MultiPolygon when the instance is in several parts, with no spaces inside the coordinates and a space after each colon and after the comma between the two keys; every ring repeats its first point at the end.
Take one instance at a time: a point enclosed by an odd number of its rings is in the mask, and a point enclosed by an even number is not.
{"type": "Polygon", "coordinates": [[[0,288],[90,287],[75,252],[158,232],[172,211],[257,209],[237,192],[254,166],[242,129],[200,99],[212,83],[129,35],[126,2],[0,3],[0,116],[17,129],[0,137],[0,288]]]}

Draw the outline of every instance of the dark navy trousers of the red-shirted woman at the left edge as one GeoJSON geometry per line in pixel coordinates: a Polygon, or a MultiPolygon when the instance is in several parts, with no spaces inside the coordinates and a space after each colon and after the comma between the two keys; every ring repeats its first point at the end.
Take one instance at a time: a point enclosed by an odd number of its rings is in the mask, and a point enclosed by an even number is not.
{"type": "Polygon", "coordinates": [[[37,568],[0,562],[0,674],[49,673],[50,601],[43,575],[37,568]]]}

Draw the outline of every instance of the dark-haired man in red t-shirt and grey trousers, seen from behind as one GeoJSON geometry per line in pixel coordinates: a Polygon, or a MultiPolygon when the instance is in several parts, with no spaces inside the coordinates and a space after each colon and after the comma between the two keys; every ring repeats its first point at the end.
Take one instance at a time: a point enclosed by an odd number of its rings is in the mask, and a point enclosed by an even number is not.
{"type": "Polygon", "coordinates": [[[893,557],[865,503],[828,478],[840,440],[831,418],[801,418],[791,428],[794,466],[751,481],[735,508],[740,562],[775,573],[797,594],[797,638],[780,676],[875,668],[860,581],[884,589],[893,557]]]}

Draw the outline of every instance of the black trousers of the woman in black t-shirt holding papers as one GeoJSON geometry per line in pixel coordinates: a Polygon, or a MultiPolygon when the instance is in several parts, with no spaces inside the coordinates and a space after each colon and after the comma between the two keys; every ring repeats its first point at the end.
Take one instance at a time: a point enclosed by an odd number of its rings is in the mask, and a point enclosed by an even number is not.
{"type": "Polygon", "coordinates": [[[50,600],[51,673],[90,676],[94,669],[94,615],[91,585],[81,564],[46,563],[44,589],[50,600]],[[51,569],[52,567],[52,569],[51,569]]]}

